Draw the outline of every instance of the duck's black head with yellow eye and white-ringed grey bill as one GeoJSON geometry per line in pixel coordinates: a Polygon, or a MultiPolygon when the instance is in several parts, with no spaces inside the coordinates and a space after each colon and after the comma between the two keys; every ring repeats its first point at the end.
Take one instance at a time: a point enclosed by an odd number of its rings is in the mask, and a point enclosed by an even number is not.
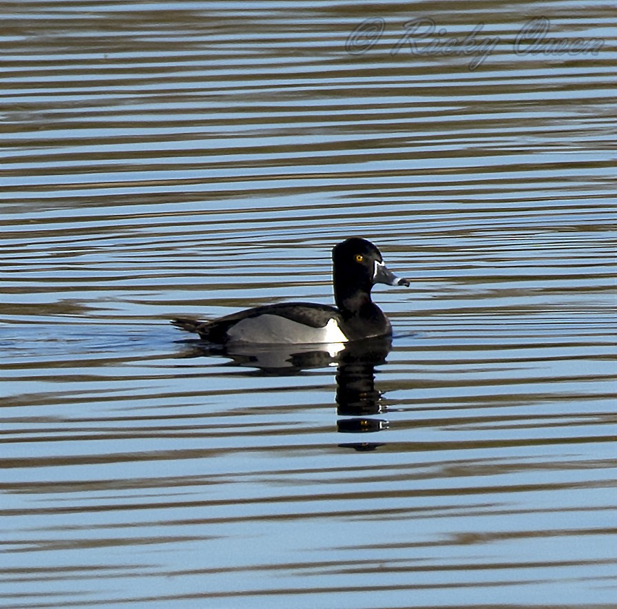
{"type": "Polygon", "coordinates": [[[381,252],[373,243],[359,237],[344,240],[332,250],[334,296],[339,309],[357,308],[370,302],[370,290],[376,283],[409,285],[384,264],[381,252]]]}

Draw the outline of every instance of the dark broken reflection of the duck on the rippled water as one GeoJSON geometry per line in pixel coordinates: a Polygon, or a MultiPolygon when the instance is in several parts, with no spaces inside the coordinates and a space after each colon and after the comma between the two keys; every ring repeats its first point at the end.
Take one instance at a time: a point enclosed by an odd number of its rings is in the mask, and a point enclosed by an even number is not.
{"type": "MultiPolygon", "coordinates": [[[[266,375],[295,375],[303,370],[336,367],[337,431],[348,434],[375,433],[386,429],[388,422],[373,415],[383,414],[386,406],[381,392],[375,389],[375,367],[386,363],[392,349],[392,337],[367,338],[348,343],[230,344],[229,346],[193,345],[185,357],[223,356],[230,366],[256,369],[266,375]]],[[[345,442],[339,444],[356,451],[374,451],[379,442],[345,442]]]]}

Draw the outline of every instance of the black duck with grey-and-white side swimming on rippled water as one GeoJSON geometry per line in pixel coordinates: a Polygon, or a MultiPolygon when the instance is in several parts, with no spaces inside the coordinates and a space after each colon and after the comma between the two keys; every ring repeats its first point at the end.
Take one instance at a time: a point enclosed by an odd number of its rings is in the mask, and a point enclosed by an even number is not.
{"type": "Polygon", "coordinates": [[[351,237],[332,250],[336,307],[282,302],[231,313],[215,320],[174,318],[179,329],[211,344],[332,344],[392,335],[392,325],[370,298],[377,283],[409,287],[395,276],[370,241],[351,237]]]}

